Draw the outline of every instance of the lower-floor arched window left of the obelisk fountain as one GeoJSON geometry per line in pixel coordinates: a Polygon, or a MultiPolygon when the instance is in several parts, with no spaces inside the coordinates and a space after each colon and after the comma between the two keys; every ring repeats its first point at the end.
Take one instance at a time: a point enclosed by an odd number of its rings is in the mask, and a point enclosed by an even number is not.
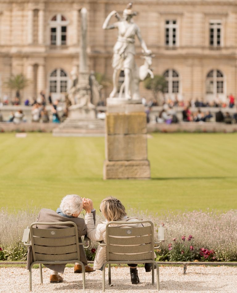
{"type": "Polygon", "coordinates": [[[68,76],[66,72],[61,69],[55,69],[50,74],[49,91],[51,93],[66,93],[68,87],[68,76]]]}

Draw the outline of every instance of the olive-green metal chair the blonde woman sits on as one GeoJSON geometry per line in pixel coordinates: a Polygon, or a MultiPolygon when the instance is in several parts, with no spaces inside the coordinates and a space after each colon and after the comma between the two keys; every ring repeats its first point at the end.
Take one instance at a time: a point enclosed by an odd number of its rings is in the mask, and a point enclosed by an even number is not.
{"type": "MultiPolygon", "coordinates": [[[[106,244],[98,243],[100,246],[106,246],[107,261],[103,265],[103,285],[102,291],[105,292],[105,268],[108,265],[109,285],[111,284],[110,264],[143,264],[152,263],[152,284],[154,284],[154,266],[156,266],[157,290],[160,290],[159,266],[154,260],[154,225],[151,221],[134,221],[130,224],[148,224],[148,226],[139,228],[119,227],[128,225],[128,222],[108,222],[106,224],[106,244]]],[[[161,245],[161,244],[160,244],[161,245]]]]}

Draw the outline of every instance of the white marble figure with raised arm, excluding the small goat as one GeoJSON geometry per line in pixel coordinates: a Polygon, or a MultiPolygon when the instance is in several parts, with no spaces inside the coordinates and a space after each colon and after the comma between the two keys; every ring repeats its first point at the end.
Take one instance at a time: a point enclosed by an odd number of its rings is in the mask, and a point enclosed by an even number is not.
{"type": "Polygon", "coordinates": [[[123,11],[122,18],[117,11],[111,11],[106,17],[102,27],[103,29],[118,29],[118,39],[113,50],[113,90],[110,93],[110,98],[118,97],[118,77],[121,70],[124,70],[124,98],[126,100],[139,99],[138,88],[136,88],[138,82],[136,75],[139,70],[135,63],[135,36],[138,37],[144,56],[151,56],[152,54],[151,50],[147,49],[141,37],[139,27],[133,22],[132,17],[136,15],[136,12],[132,11],[131,8],[132,3],[129,3],[127,8],[123,11]],[[113,16],[115,16],[118,21],[109,24],[113,16]]]}

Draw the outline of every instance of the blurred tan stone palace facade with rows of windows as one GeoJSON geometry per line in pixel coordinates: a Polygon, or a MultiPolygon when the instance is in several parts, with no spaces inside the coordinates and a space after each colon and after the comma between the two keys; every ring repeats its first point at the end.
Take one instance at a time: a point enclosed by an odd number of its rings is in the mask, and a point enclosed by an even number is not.
{"type": "MultiPolygon", "coordinates": [[[[41,90],[64,99],[71,72],[78,70],[80,9],[88,11],[88,67],[112,79],[111,58],[117,32],[102,30],[112,10],[120,15],[123,0],[0,0],[0,96],[14,98],[5,82],[23,73],[31,83],[23,99],[41,90]]],[[[237,95],[236,0],[137,0],[134,21],[155,54],[152,70],[167,80],[165,96],[174,99],[225,100],[237,95]]],[[[116,19],[112,19],[114,22],[116,19]]],[[[112,23],[112,22],[111,22],[112,23]]],[[[136,40],[136,60],[141,47],[136,40]]],[[[152,93],[140,85],[142,96],[152,93]]],[[[104,98],[111,88],[104,91],[104,98]]]]}

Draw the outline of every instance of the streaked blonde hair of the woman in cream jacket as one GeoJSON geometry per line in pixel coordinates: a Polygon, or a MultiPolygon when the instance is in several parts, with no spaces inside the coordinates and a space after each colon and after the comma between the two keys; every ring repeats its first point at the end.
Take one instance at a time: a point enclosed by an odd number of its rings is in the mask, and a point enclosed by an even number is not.
{"type": "Polygon", "coordinates": [[[102,200],[100,210],[108,221],[119,221],[127,216],[122,202],[113,196],[102,200]]]}

